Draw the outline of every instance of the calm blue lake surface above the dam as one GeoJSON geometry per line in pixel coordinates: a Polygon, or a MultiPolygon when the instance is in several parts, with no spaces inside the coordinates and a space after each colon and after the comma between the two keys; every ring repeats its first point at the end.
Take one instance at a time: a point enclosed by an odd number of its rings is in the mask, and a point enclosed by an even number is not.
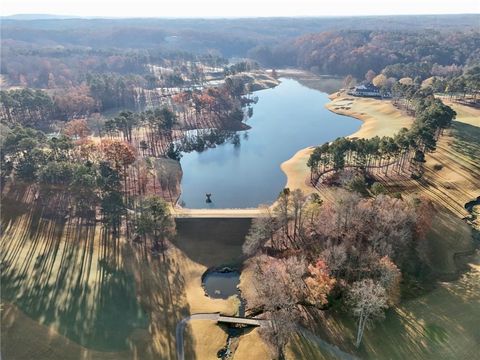
{"type": "Polygon", "coordinates": [[[298,150],[352,134],[360,121],[325,108],[327,94],[295,80],[255,93],[252,127],[239,146],[225,143],[183,154],[180,202],[190,208],[247,208],[270,204],[286,184],[280,164],[298,150]],[[205,202],[205,193],[213,202],[205,202]]]}

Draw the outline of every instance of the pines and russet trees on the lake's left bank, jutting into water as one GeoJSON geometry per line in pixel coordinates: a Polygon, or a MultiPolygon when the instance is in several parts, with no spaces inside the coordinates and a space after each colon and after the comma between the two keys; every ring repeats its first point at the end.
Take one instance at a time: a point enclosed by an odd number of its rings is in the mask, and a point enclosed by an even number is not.
{"type": "Polygon", "coordinates": [[[244,127],[246,84],[239,79],[203,90],[184,90],[166,105],[142,112],[121,111],[106,120],[103,135],[133,144],[143,156],[168,156],[203,151],[227,140],[239,143],[234,130],[244,127]],[[232,129],[232,130],[230,130],[232,129]]]}

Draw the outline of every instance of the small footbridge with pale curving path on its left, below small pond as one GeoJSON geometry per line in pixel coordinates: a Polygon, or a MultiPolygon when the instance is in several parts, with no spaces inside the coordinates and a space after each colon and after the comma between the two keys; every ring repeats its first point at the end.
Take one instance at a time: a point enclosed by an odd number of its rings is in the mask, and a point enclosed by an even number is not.
{"type": "Polygon", "coordinates": [[[236,316],[224,316],[220,313],[200,313],[192,314],[187,316],[185,319],[180,321],[177,324],[175,329],[175,338],[176,338],[176,352],[177,360],[184,360],[185,353],[183,347],[183,335],[185,333],[185,326],[190,320],[210,320],[216,321],[217,323],[223,324],[240,324],[247,326],[268,326],[270,324],[269,320],[255,319],[255,318],[245,318],[245,317],[236,317],[236,316]]]}

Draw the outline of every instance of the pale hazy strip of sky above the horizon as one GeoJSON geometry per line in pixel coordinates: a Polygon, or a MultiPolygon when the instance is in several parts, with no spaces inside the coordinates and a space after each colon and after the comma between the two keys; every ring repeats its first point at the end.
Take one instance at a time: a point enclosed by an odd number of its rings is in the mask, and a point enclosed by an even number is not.
{"type": "Polygon", "coordinates": [[[2,0],[2,15],[252,17],[480,13],[480,0],[2,0]]]}

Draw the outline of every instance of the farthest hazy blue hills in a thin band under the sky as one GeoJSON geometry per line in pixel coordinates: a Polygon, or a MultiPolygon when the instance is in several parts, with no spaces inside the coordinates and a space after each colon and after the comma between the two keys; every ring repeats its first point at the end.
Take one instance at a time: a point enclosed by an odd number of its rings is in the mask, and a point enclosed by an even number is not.
{"type": "Polygon", "coordinates": [[[238,19],[105,19],[58,15],[13,15],[0,24],[3,45],[82,46],[175,51],[219,51],[246,56],[262,45],[284,43],[312,33],[338,30],[478,30],[480,15],[362,16],[238,19]],[[37,17],[37,18],[35,18],[37,17]],[[39,18],[41,17],[41,18],[39,18]],[[28,20],[27,20],[28,19],[28,20]],[[175,36],[174,44],[166,38],[175,36]]]}

